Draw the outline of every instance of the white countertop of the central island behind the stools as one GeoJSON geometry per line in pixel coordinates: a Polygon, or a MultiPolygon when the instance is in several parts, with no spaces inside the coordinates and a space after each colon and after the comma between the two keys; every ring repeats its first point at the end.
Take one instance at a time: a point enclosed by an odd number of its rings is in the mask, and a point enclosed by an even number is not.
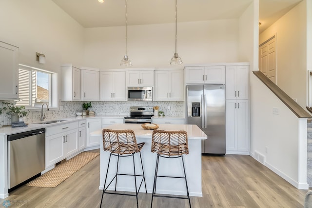
{"type": "MultiPolygon", "coordinates": [[[[136,137],[139,138],[152,138],[153,130],[145,130],[140,124],[114,124],[109,126],[110,129],[132,129],[134,130],[136,137]]],[[[188,139],[205,140],[207,135],[197,125],[184,125],[184,124],[160,124],[159,130],[185,130],[188,135],[188,139]]],[[[92,136],[102,136],[102,130],[91,132],[92,136]]]]}

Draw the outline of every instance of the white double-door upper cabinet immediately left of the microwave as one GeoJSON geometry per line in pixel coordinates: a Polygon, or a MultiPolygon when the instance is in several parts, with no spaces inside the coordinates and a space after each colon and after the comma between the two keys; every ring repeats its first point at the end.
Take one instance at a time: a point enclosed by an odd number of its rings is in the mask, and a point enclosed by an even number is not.
{"type": "Polygon", "coordinates": [[[125,71],[103,71],[99,79],[101,101],[127,101],[125,71]]]}

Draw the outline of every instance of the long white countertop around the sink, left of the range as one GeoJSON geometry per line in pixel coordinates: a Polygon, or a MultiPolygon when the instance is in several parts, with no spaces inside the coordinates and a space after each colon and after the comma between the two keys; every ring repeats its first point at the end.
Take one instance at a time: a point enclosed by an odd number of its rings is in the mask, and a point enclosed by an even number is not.
{"type": "MultiPolygon", "coordinates": [[[[11,127],[11,126],[2,126],[0,127],[0,135],[8,135],[8,134],[16,134],[20,132],[25,132],[25,131],[31,131],[31,130],[36,130],[39,128],[46,128],[54,125],[61,125],[69,122],[74,122],[74,121],[80,121],[83,119],[92,119],[92,118],[124,118],[127,115],[95,115],[95,116],[73,116],[73,117],[67,117],[67,118],[56,118],[56,119],[50,119],[50,121],[53,120],[66,120],[61,123],[53,123],[53,124],[36,124],[31,123],[28,124],[28,126],[23,126],[23,127],[11,127]]],[[[48,122],[49,120],[45,120],[45,122],[48,122]]],[[[39,122],[39,121],[38,121],[39,122]]]]}

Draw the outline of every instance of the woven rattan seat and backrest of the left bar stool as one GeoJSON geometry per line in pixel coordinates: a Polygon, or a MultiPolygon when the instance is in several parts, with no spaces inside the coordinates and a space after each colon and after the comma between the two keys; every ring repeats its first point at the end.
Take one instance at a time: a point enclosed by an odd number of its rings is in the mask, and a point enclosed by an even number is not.
{"type": "Polygon", "coordinates": [[[139,152],[135,132],[131,129],[103,129],[103,148],[120,155],[139,152]]]}

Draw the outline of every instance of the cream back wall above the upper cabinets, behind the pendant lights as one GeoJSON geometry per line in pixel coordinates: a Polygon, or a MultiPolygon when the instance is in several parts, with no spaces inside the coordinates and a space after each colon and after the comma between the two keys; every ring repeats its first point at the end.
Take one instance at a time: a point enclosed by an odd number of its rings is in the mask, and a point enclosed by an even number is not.
{"type": "MultiPolygon", "coordinates": [[[[238,62],[238,40],[237,19],[177,23],[177,53],[183,64],[238,62]]],[[[84,52],[87,66],[120,68],[125,27],[85,29],[84,52]]],[[[170,67],[174,52],[174,23],[127,27],[127,55],[133,67],[170,67]]]]}

